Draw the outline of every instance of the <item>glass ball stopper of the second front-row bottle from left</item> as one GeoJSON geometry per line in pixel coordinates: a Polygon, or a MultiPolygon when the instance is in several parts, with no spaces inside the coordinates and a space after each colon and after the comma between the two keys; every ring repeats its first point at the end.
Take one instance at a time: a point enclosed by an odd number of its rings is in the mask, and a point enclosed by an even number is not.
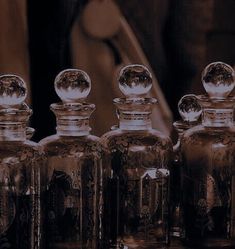
{"type": "Polygon", "coordinates": [[[64,103],[82,102],[90,93],[91,80],[82,70],[66,69],[56,76],[55,90],[64,103]]]}

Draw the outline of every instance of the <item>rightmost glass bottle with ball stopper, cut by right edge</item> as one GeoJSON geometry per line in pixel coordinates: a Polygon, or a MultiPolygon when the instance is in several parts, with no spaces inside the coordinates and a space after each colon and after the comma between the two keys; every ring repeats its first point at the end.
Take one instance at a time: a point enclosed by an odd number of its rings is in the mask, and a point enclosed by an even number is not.
{"type": "Polygon", "coordinates": [[[181,139],[183,241],[196,248],[235,248],[234,70],[209,64],[202,82],[208,94],[198,96],[202,125],[181,139]]]}

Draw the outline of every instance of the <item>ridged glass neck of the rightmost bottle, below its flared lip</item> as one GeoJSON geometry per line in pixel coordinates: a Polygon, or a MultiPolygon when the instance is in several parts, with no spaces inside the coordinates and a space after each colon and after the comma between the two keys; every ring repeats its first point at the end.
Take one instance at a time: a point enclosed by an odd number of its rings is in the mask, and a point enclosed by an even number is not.
{"type": "Polygon", "coordinates": [[[230,127],[233,125],[233,109],[204,108],[202,124],[205,127],[230,127]]]}

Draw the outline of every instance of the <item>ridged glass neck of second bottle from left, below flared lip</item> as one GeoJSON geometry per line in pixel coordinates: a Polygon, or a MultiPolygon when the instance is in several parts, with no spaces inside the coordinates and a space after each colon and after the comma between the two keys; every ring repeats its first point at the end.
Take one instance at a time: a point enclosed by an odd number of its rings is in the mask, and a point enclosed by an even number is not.
{"type": "Polygon", "coordinates": [[[58,118],[57,134],[60,136],[87,136],[90,134],[89,118],[58,118]]]}

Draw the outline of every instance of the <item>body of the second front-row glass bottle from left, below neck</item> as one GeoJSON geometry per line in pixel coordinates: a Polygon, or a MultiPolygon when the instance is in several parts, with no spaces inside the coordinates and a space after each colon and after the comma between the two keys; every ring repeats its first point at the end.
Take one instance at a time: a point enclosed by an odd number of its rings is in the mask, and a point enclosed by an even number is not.
{"type": "Polygon", "coordinates": [[[100,248],[102,215],[101,145],[95,136],[51,136],[41,141],[47,248],[100,248]]]}

